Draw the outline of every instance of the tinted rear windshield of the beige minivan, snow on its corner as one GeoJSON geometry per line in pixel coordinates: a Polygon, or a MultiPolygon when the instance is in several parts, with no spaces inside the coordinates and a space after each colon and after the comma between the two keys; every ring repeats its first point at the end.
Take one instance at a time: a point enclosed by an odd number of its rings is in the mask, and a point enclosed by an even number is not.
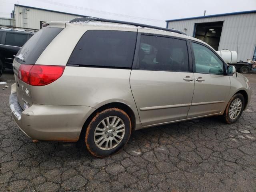
{"type": "Polygon", "coordinates": [[[42,28],[22,46],[15,59],[22,64],[35,64],[45,48],[62,30],[63,28],[57,27],[42,28]]]}

